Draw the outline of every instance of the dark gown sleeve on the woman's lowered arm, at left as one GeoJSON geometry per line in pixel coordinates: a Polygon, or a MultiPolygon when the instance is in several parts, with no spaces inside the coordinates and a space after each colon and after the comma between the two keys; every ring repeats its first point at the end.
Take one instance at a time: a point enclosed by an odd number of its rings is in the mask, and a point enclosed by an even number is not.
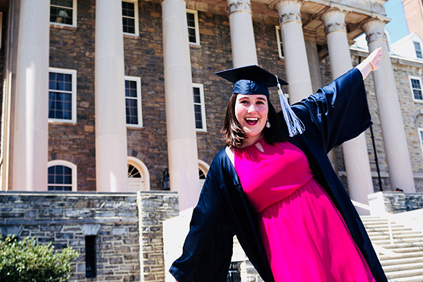
{"type": "Polygon", "coordinates": [[[220,190],[211,169],[193,210],[182,256],[169,270],[179,282],[226,280],[234,229],[220,190]]]}

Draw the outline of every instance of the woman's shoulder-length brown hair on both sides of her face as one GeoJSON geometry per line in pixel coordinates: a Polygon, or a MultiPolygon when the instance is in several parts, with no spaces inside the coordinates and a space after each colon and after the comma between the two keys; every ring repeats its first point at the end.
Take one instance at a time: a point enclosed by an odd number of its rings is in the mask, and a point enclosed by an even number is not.
{"type": "MultiPolygon", "coordinates": [[[[226,146],[239,148],[242,146],[243,139],[245,139],[246,135],[235,116],[236,96],[238,96],[238,94],[232,94],[229,102],[227,103],[225,121],[223,123],[221,133],[223,134],[223,141],[226,146]]],[[[277,115],[275,107],[273,107],[269,99],[268,121],[270,123],[270,127],[265,126],[263,129],[264,140],[270,145],[275,142],[285,141],[287,136],[282,133],[282,123],[279,121],[279,116],[277,115]]]]}

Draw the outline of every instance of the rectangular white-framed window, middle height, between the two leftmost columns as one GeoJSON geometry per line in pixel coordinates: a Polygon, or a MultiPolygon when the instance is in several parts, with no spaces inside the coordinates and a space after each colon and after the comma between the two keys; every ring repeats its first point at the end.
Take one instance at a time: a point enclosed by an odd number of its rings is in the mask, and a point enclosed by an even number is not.
{"type": "Polygon", "coordinates": [[[49,121],[76,123],[76,71],[49,69],[49,121]]]}

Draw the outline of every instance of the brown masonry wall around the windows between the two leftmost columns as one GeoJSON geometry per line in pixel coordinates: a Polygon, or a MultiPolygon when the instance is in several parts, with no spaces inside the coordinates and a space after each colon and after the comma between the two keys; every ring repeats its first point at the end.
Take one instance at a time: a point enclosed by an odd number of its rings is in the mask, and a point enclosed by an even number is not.
{"type": "Polygon", "coordinates": [[[49,123],[49,161],[62,159],[78,166],[78,191],[96,190],[94,2],[78,1],[77,28],[50,28],[50,67],[77,71],[77,123],[49,123]]]}

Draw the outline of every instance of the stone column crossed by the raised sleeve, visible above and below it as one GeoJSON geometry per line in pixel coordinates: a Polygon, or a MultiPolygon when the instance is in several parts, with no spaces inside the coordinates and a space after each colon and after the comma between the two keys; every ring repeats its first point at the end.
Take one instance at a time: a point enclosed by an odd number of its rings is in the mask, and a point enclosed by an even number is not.
{"type": "MultiPolygon", "coordinates": [[[[325,24],[332,78],[335,79],[352,69],[345,12],[337,8],[330,9],[322,15],[322,21],[325,24]]],[[[368,204],[368,194],[373,193],[373,183],[364,133],[345,142],[343,152],[349,196],[356,202],[368,204]]],[[[361,214],[368,213],[358,210],[361,214]]]]}

